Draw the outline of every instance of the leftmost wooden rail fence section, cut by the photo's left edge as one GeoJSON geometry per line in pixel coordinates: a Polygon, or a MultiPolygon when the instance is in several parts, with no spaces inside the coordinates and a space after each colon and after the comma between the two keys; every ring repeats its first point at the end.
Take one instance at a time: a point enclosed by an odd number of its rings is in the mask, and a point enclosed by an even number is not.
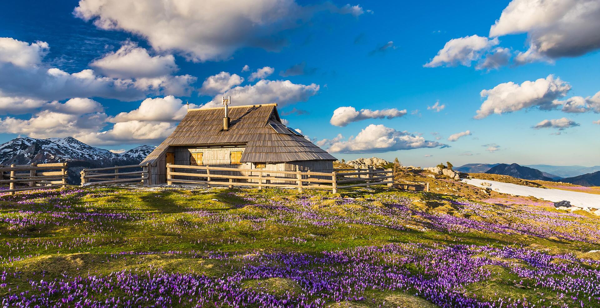
{"type": "Polygon", "coordinates": [[[67,187],[66,162],[29,165],[12,164],[10,167],[0,166],[0,173],[2,174],[0,184],[8,183],[9,185],[7,190],[0,192],[8,192],[11,195],[15,192],[31,191],[33,189],[67,187]],[[26,185],[27,187],[17,188],[17,185],[26,185]]]}

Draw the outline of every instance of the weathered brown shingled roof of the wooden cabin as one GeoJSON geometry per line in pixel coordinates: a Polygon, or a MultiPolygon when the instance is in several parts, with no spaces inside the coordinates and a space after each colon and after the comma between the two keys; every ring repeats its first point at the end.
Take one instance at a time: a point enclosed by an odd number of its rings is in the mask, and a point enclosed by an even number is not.
{"type": "Polygon", "coordinates": [[[154,162],[169,146],[245,144],[242,162],[335,161],[328,152],[301,135],[281,134],[277,104],[229,107],[229,130],[223,130],[224,107],[190,109],[175,131],[142,162],[154,162]]]}

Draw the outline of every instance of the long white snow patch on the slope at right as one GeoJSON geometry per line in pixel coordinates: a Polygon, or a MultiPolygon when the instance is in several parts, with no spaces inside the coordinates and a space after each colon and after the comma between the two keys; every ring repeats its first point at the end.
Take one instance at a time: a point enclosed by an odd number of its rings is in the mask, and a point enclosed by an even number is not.
{"type": "Polygon", "coordinates": [[[491,183],[489,188],[493,191],[502,192],[504,194],[511,194],[517,196],[532,196],[542,200],[548,200],[552,202],[559,202],[562,200],[570,201],[574,206],[587,206],[587,207],[600,207],[600,195],[587,194],[585,192],[574,192],[574,191],[563,191],[560,189],[546,189],[529,187],[511,183],[502,183],[490,180],[481,179],[463,179],[461,182],[469,185],[477,186],[479,188],[487,188],[481,183],[491,183]]]}

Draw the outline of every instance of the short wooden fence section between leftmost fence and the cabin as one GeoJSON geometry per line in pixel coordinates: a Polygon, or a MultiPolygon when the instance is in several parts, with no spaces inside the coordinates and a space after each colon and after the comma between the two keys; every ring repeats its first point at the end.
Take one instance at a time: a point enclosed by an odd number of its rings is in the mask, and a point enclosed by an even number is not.
{"type": "Polygon", "coordinates": [[[141,182],[148,185],[148,164],[125,165],[106,168],[83,169],[81,172],[81,186],[104,185],[126,182],[141,182]],[[122,169],[142,168],[141,171],[119,172],[122,169]],[[100,171],[100,172],[98,172],[100,171]],[[107,173],[106,171],[111,171],[107,173]]]}

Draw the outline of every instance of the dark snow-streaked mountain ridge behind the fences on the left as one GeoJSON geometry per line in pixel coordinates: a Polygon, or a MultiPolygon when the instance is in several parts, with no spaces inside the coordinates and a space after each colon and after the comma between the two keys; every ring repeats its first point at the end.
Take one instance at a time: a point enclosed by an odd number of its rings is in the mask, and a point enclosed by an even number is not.
{"type": "Polygon", "coordinates": [[[83,168],[136,165],[152,150],[154,150],[152,146],[139,146],[118,154],[89,146],[73,137],[47,139],[21,137],[0,144],[0,164],[69,162],[68,182],[79,184],[79,171],[83,168]]]}

